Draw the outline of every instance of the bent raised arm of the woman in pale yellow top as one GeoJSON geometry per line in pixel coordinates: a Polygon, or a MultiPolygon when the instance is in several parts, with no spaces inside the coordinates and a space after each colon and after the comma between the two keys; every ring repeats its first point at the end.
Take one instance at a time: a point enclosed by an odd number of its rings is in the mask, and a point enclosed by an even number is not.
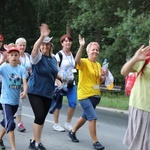
{"type": "Polygon", "coordinates": [[[124,76],[127,76],[130,72],[133,71],[132,67],[136,62],[145,61],[146,59],[148,59],[150,57],[147,55],[149,53],[150,53],[150,46],[146,46],[146,47],[144,47],[144,45],[141,46],[136,51],[134,56],[123,65],[123,67],[121,69],[121,74],[124,76]]]}

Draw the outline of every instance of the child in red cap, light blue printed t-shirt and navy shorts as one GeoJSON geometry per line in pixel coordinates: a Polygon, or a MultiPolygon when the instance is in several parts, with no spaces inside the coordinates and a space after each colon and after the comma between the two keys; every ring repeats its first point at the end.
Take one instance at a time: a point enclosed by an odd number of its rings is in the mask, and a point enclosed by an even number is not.
{"type": "Polygon", "coordinates": [[[15,146],[15,122],[14,114],[17,111],[19,99],[25,98],[27,93],[26,69],[19,65],[20,52],[14,45],[5,46],[6,53],[0,62],[0,75],[2,76],[2,91],[0,103],[3,107],[2,128],[0,131],[0,149],[5,149],[3,136],[8,133],[11,150],[16,150],[15,146]],[[20,95],[21,84],[23,82],[23,92],[20,95]]]}

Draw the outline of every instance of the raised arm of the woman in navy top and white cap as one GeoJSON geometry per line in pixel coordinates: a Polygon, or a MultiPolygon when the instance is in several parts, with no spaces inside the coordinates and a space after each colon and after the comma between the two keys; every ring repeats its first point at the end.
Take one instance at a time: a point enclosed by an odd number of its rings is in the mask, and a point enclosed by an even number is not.
{"type": "Polygon", "coordinates": [[[38,50],[39,50],[44,38],[50,34],[50,29],[47,24],[43,23],[43,24],[41,24],[41,26],[39,28],[40,28],[40,37],[35,42],[32,53],[31,53],[31,57],[33,57],[33,58],[38,54],[38,50]]]}

